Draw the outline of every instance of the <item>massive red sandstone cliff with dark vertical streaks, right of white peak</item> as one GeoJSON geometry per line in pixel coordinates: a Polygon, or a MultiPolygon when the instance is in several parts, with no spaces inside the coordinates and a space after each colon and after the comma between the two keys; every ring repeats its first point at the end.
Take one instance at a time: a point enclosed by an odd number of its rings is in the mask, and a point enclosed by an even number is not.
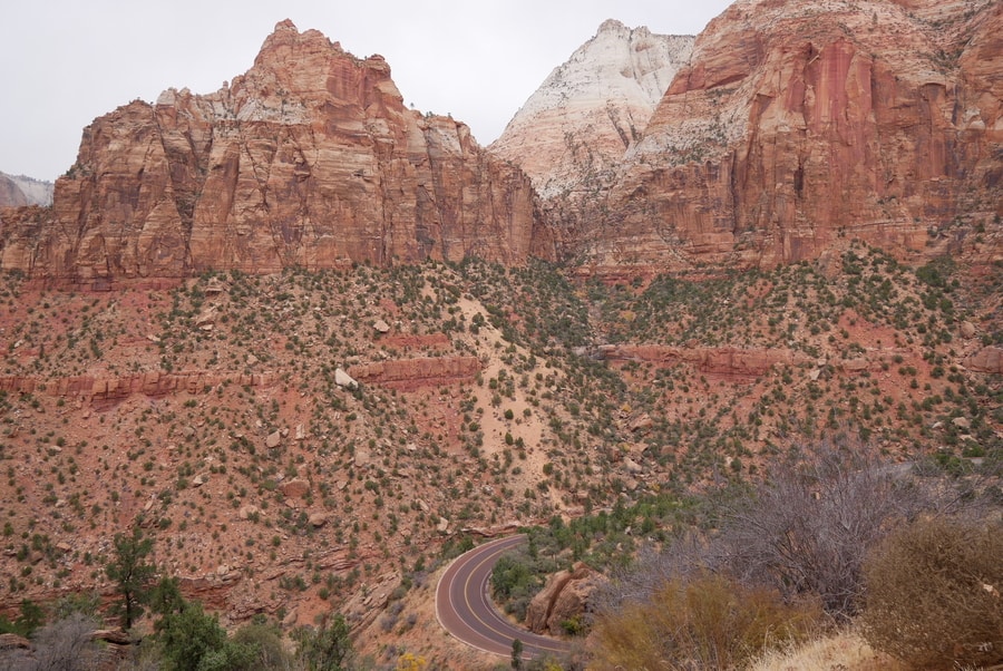
{"type": "Polygon", "coordinates": [[[698,37],[578,252],[600,271],[772,265],[859,237],[922,257],[999,228],[1001,36],[991,0],[739,0],[698,37]]]}

